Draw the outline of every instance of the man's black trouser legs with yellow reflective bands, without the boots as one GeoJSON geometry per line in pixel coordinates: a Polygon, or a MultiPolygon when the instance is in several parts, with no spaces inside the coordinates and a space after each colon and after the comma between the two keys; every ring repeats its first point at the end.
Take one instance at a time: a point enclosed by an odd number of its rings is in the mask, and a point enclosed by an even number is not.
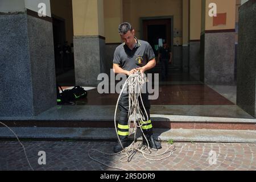
{"type": "MultiPolygon", "coordinates": [[[[148,115],[148,123],[143,125],[142,129],[144,128],[143,131],[145,134],[151,134],[152,124],[150,121],[150,100],[148,100],[148,93],[142,93],[142,101],[148,115]]],[[[141,110],[145,117],[145,120],[147,120],[146,113],[144,112],[144,109],[141,103],[141,98],[139,98],[139,105],[141,106],[141,110]]],[[[118,102],[118,109],[120,111],[120,118],[118,120],[118,135],[120,139],[125,139],[129,135],[129,129],[127,125],[128,111],[129,111],[129,94],[127,93],[121,94],[120,100],[118,102]]]]}

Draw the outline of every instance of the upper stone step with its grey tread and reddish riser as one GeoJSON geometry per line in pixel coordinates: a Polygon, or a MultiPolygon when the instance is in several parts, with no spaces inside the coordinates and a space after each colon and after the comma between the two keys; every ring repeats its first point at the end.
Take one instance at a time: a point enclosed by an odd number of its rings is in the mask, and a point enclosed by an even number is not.
{"type": "MultiPolygon", "coordinates": [[[[222,106],[151,106],[150,115],[154,128],[159,129],[256,130],[256,119],[236,108],[232,106],[228,108],[222,106]],[[179,111],[179,115],[172,114],[179,111]],[[223,115],[223,117],[218,115],[223,115]]],[[[61,105],[36,116],[0,117],[0,121],[10,127],[113,128],[114,111],[115,106],[61,105]]],[[[119,118],[118,114],[117,118],[119,118]]]]}

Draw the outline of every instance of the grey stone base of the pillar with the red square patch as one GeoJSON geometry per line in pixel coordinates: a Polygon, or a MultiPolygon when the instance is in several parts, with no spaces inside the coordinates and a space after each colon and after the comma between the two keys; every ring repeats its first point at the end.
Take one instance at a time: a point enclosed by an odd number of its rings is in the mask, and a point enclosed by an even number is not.
{"type": "Polygon", "coordinates": [[[204,83],[234,85],[235,32],[204,35],[204,83]]]}

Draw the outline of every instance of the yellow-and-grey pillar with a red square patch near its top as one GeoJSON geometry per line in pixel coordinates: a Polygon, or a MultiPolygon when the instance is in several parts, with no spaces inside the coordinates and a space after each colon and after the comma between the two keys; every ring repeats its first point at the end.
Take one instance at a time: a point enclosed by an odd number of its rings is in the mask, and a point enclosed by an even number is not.
{"type": "Polygon", "coordinates": [[[203,0],[201,77],[208,85],[234,85],[236,1],[203,0]],[[217,16],[209,15],[209,4],[217,16]]]}

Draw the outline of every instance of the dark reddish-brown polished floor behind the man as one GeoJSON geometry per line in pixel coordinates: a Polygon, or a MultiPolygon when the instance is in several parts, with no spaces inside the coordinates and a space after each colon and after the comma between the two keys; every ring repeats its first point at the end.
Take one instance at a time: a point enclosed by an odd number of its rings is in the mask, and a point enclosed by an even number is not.
{"type": "MultiPolygon", "coordinates": [[[[118,94],[99,94],[97,89],[88,90],[87,98],[76,101],[77,105],[115,105],[118,94]]],[[[206,85],[161,85],[159,98],[151,105],[234,105],[206,85]]]]}

